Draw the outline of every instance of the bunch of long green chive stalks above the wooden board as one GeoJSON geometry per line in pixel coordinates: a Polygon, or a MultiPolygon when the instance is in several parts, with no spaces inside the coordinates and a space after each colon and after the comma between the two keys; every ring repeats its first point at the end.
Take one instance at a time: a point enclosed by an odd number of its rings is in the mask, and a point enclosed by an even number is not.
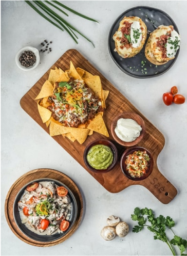
{"type": "Polygon", "coordinates": [[[96,21],[92,18],[89,18],[89,17],[81,14],[80,12],[77,12],[77,11],[67,7],[66,5],[63,5],[62,3],[58,2],[57,0],[51,0],[52,3],[49,2],[48,0],[43,0],[43,1],[42,0],[24,0],[24,1],[34,11],[38,12],[45,20],[50,22],[52,25],[54,25],[55,27],[58,27],[62,31],[65,30],[70,35],[70,37],[73,39],[73,41],[76,42],[77,44],[78,44],[78,41],[77,41],[78,36],[76,35],[76,33],[81,35],[83,38],[85,38],[87,41],[89,41],[95,47],[94,43],[89,38],[87,38],[85,35],[83,35],[81,33],[81,31],[79,31],[77,28],[73,27],[69,22],[64,20],[59,14],[57,14],[55,11],[53,11],[50,8],[50,6],[59,10],[60,12],[62,12],[67,17],[69,15],[62,8],[66,9],[66,10],[78,15],[79,17],[86,19],[86,20],[99,23],[98,21],[96,21]]]}

